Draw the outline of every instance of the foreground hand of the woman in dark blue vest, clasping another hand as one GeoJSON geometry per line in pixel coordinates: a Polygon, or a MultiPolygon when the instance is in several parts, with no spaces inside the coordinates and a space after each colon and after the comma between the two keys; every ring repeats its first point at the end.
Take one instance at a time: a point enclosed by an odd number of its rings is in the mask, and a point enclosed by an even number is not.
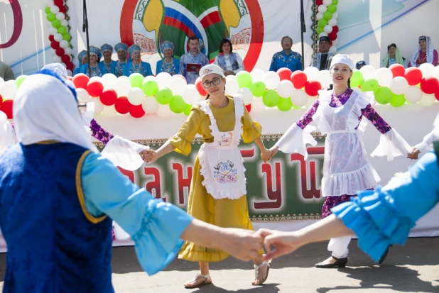
{"type": "Polygon", "coordinates": [[[238,260],[249,261],[258,258],[262,250],[262,237],[251,230],[238,228],[224,228],[222,241],[218,248],[224,250],[238,260]]]}

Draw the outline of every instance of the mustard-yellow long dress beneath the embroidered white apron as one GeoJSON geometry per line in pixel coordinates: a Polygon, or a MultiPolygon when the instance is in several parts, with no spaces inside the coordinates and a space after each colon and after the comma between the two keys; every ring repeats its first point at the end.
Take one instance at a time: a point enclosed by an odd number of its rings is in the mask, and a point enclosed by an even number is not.
{"type": "MultiPolygon", "coordinates": [[[[229,104],[224,108],[215,108],[210,105],[217,121],[219,131],[233,131],[235,124],[234,99],[229,97],[229,104]]],[[[242,122],[242,138],[244,143],[251,143],[261,136],[261,126],[254,122],[249,112],[244,109],[242,122]]],[[[213,136],[210,131],[210,119],[198,106],[193,106],[188,119],[180,131],[169,139],[175,151],[189,155],[191,141],[197,133],[203,141],[210,143],[213,136]]],[[[190,183],[188,214],[212,225],[223,228],[253,229],[249,219],[249,209],[246,195],[239,199],[214,199],[202,185],[204,177],[200,173],[200,161],[195,159],[192,182],[190,183]]],[[[205,248],[186,241],[180,250],[178,258],[197,262],[219,262],[229,255],[222,250],[205,248]]]]}

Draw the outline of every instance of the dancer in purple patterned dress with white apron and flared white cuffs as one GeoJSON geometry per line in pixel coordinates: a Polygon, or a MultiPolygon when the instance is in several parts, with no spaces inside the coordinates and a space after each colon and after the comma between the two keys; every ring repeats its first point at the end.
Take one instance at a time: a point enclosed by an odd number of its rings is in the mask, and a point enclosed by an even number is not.
{"type": "MultiPolygon", "coordinates": [[[[300,153],[306,158],[306,144],[317,145],[310,135],[310,128],[305,128],[313,119],[320,132],[327,135],[320,189],[325,197],[322,218],[330,216],[334,206],[350,201],[357,191],[374,189],[380,180],[367,160],[360,136],[362,127],[359,126],[363,116],[381,133],[380,143],[372,157],[386,156],[390,161],[395,156],[411,153],[406,140],[372,108],[373,93],[355,92],[349,87],[353,70],[354,62],[348,55],[335,55],[330,66],[333,89],[319,91],[319,98],[313,106],[271,148],[273,155],[281,150],[283,153],[300,153]]],[[[332,256],[316,267],[345,267],[350,240],[350,236],[332,238],[327,248],[332,256]]]]}

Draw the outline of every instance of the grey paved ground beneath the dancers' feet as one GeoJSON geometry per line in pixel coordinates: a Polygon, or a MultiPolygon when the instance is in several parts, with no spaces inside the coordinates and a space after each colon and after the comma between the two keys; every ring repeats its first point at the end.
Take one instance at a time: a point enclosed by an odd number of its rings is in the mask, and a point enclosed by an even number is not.
{"type": "MultiPolygon", "coordinates": [[[[113,249],[113,284],[116,292],[151,293],[387,293],[439,292],[439,238],[412,238],[405,247],[391,248],[381,267],[350,244],[349,267],[317,269],[315,262],[327,258],[326,243],[301,248],[273,262],[269,279],[262,287],[251,286],[251,263],[229,258],[211,265],[214,284],[199,289],[184,289],[182,284],[192,278],[197,264],[175,260],[165,271],[148,277],[141,270],[132,247],[113,249]]],[[[0,288],[6,254],[0,254],[0,288]]]]}

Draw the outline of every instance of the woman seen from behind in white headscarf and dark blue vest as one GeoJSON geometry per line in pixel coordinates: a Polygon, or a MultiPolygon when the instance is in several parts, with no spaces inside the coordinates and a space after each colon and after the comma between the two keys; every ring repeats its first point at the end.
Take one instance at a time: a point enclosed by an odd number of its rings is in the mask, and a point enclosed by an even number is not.
{"type": "Polygon", "coordinates": [[[58,74],[27,77],[13,114],[19,143],[0,156],[4,292],[114,292],[110,217],[129,233],[149,275],[173,260],[181,239],[242,260],[258,255],[256,233],[197,221],[139,189],[99,155],[75,89],[58,74]]]}

